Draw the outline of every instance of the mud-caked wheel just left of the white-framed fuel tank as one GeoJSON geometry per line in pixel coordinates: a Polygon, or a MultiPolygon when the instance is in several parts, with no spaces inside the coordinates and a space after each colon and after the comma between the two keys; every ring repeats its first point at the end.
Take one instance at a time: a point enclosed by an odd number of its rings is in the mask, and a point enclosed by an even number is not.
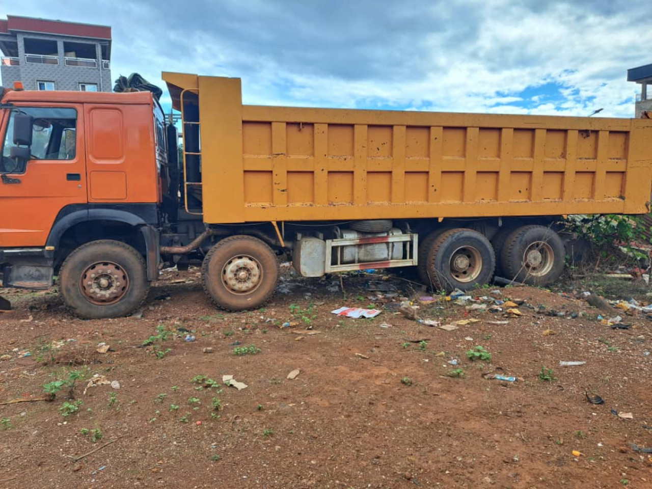
{"type": "Polygon", "coordinates": [[[204,258],[201,275],[206,293],[220,308],[255,309],[273,295],[278,259],[258,238],[231,236],[218,242],[204,258]]]}

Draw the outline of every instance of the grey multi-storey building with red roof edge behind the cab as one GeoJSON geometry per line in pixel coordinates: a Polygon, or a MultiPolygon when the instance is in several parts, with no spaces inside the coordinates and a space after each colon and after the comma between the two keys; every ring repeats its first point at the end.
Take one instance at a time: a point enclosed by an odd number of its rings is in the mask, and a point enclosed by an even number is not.
{"type": "Polygon", "coordinates": [[[8,15],[0,51],[5,87],[111,91],[111,27],[8,15]]]}

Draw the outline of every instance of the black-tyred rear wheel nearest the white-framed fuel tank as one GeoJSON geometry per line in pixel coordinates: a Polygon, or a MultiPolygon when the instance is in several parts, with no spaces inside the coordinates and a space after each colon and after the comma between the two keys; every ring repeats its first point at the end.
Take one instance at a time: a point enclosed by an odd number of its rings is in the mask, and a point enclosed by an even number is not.
{"type": "Polygon", "coordinates": [[[425,260],[428,280],[440,290],[471,290],[488,284],[496,258],[481,233],[458,228],[441,233],[430,244],[425,260]]]}

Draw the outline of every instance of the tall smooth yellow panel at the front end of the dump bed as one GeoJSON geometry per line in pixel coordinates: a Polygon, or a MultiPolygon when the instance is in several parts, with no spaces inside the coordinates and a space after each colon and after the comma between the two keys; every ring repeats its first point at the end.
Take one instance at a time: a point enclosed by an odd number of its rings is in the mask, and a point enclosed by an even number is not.
{"type": "MultiPolygon", "coordinates": [[[[242,91],[239,78],[199,77],[205,222],[244,221],[242,91]]],[[[273,219],[275,220],[275,219],[273,219]]]]}

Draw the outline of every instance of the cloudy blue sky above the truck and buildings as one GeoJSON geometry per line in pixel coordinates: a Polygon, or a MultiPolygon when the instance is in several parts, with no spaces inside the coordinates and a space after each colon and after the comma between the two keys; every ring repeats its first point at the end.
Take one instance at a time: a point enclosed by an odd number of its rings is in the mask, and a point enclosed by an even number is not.
{"type": "Polygon", "coordinates": [[[249,104],[632,117],[627,69],[652,63],[649,0],[88,5],[23,0],[0,17],[111,25],[113,78],[235,76],[249,104]]]}

